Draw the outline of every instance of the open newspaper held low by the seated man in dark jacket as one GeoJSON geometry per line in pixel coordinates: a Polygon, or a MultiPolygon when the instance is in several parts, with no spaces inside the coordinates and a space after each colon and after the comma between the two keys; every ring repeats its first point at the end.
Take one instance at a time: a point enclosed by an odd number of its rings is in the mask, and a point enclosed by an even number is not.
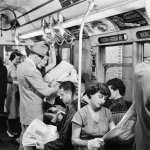
{"type": "Polygon", "coordinates": [[[23,146],[36,146],[36,143],[47,143],[58,138],[57,127],[46,125],[39,119],[31,122],[25,133],[23,134],[23,146]]]}

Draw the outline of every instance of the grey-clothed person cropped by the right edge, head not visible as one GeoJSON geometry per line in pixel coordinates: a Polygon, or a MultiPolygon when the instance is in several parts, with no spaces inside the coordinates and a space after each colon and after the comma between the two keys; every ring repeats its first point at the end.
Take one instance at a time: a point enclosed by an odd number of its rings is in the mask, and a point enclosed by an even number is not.
{"type": "Polygon", "coordinates": [[[135,67],[134,91],[136,150],[150,150],[150,58],[135,67]]]}

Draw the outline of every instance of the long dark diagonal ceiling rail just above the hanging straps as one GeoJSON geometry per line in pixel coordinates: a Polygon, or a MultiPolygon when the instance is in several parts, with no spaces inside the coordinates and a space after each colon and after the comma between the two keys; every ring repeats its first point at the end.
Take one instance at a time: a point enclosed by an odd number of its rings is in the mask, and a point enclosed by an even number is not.
{"type": "Polygon", "coordinates": [[[55,10],[55,11],[53,11],[53,12],[50,12],[50,13],[48,13],[48,14],[46,14],[46,15],[43,15],[43,16],[38,17],[38,18],[36,18],[36,19],[33,19],[33,20],[29,21],[29,22],[26,22],[26,23],[20,25],[20,26],[17,27],[17,28],[23,27],[23,26],[25,26],[25,25],[27,25],[27,24],[30,24],[30,23],[35,22],[35,21],[38,21],[38,20],[40,20],[40,19],[42,19],[42,18],[45,18],[45,17],[47,17],[47,16],[51,16],[51,15],[53,15],[53,14],[55,14],[55,13],[58,13],[58,12],[64,10],[64,9],[73,7],[73,6],[75,6],[75,5],[78,5],[78,4],[80,4],[80,3],[83,3],[83,2],[85,2],[85,1],[87,1],[87,0],[81,0],[81,1],[78,1],[78,2],[76,2],[76,3],[71,4],[71,5],[69,5],[69,6],[60,8],[60,9],[55,10]]]}

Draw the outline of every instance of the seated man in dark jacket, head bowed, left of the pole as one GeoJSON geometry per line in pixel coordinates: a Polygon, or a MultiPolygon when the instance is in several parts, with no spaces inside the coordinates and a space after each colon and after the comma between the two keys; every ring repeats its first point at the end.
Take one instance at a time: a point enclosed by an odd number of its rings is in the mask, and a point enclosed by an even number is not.
{"type": "Polygon", "coordinates": [[[64,81],[59,86],[59,95],[66,105],[66,114],[57,126],[59,138],[46,144],[37,143],[37,149],[73,150],[71,143],[71,120],[76,112],[76,87],[71,81],[64,81]]]}

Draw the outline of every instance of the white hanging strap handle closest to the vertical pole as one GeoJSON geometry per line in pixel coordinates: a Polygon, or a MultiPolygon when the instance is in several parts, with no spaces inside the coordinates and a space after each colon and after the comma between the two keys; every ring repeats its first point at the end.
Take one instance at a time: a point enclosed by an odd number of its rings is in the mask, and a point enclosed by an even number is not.
{"type": "Polygon", "coordinates": [[[63,16],[60,13],[58,13],[58,18],[59,21],[57,25],[54,26],[54,31],[61,35],[67,44],[71,44],[75,37],[69,30],[63,28],[63,16]]]}

